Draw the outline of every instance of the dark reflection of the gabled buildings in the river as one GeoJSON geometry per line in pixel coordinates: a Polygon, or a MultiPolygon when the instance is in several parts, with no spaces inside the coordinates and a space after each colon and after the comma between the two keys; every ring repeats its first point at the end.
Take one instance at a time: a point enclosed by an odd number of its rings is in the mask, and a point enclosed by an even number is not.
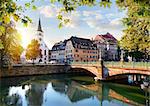
{"type": "Polygon", "coordinates": [[[64,93],[68,96],[71,102],[78,102],[83,99],[87,99],[93,96],[93,93],[89,90],[85,90],[80,84],[71,82],[65,84],[64,81],[53,81],[52,87],[56,92],[64,93]]]}

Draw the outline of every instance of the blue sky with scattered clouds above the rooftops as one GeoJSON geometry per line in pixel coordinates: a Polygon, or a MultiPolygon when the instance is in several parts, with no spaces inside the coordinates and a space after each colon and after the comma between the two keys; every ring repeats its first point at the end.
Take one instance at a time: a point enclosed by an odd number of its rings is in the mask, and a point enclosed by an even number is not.
{"type": "MultiPolygon", "coordinates": [[[[30,0],[19,0],[17,4],[23,5],[30,0]]],[[[51,4],[49,0],[36,1],[36,10],[28,9],[25,15],[32,19],[32,23],[28,27],[17,23],[16,28],[22,34],[22,45],[24,47],[36,35],[39,17],[41,19],[42,30],[44,31],[44,41],[51,47],[59,41],[69,39],[71,36],[92,39],[98,34],[111,33],[118,40],[122,37],[124,29],[121,19],[126,17],[126,12],[121,11],[112,0],[111,8],[95,7],[79,7],[75,12],[65,15],[70,19],[70,23],[63,28],[58,28],[58,14],[60,4],[51,4]]]]}

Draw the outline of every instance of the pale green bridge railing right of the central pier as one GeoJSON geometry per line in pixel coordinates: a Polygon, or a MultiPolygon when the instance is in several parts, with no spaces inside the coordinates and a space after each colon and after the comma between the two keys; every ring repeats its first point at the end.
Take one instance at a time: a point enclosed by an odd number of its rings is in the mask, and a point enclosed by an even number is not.
{"type": "Polygon", "coordinates": [[[150,70],[150,62],[104,62],[104,66],[150,70]]]}

